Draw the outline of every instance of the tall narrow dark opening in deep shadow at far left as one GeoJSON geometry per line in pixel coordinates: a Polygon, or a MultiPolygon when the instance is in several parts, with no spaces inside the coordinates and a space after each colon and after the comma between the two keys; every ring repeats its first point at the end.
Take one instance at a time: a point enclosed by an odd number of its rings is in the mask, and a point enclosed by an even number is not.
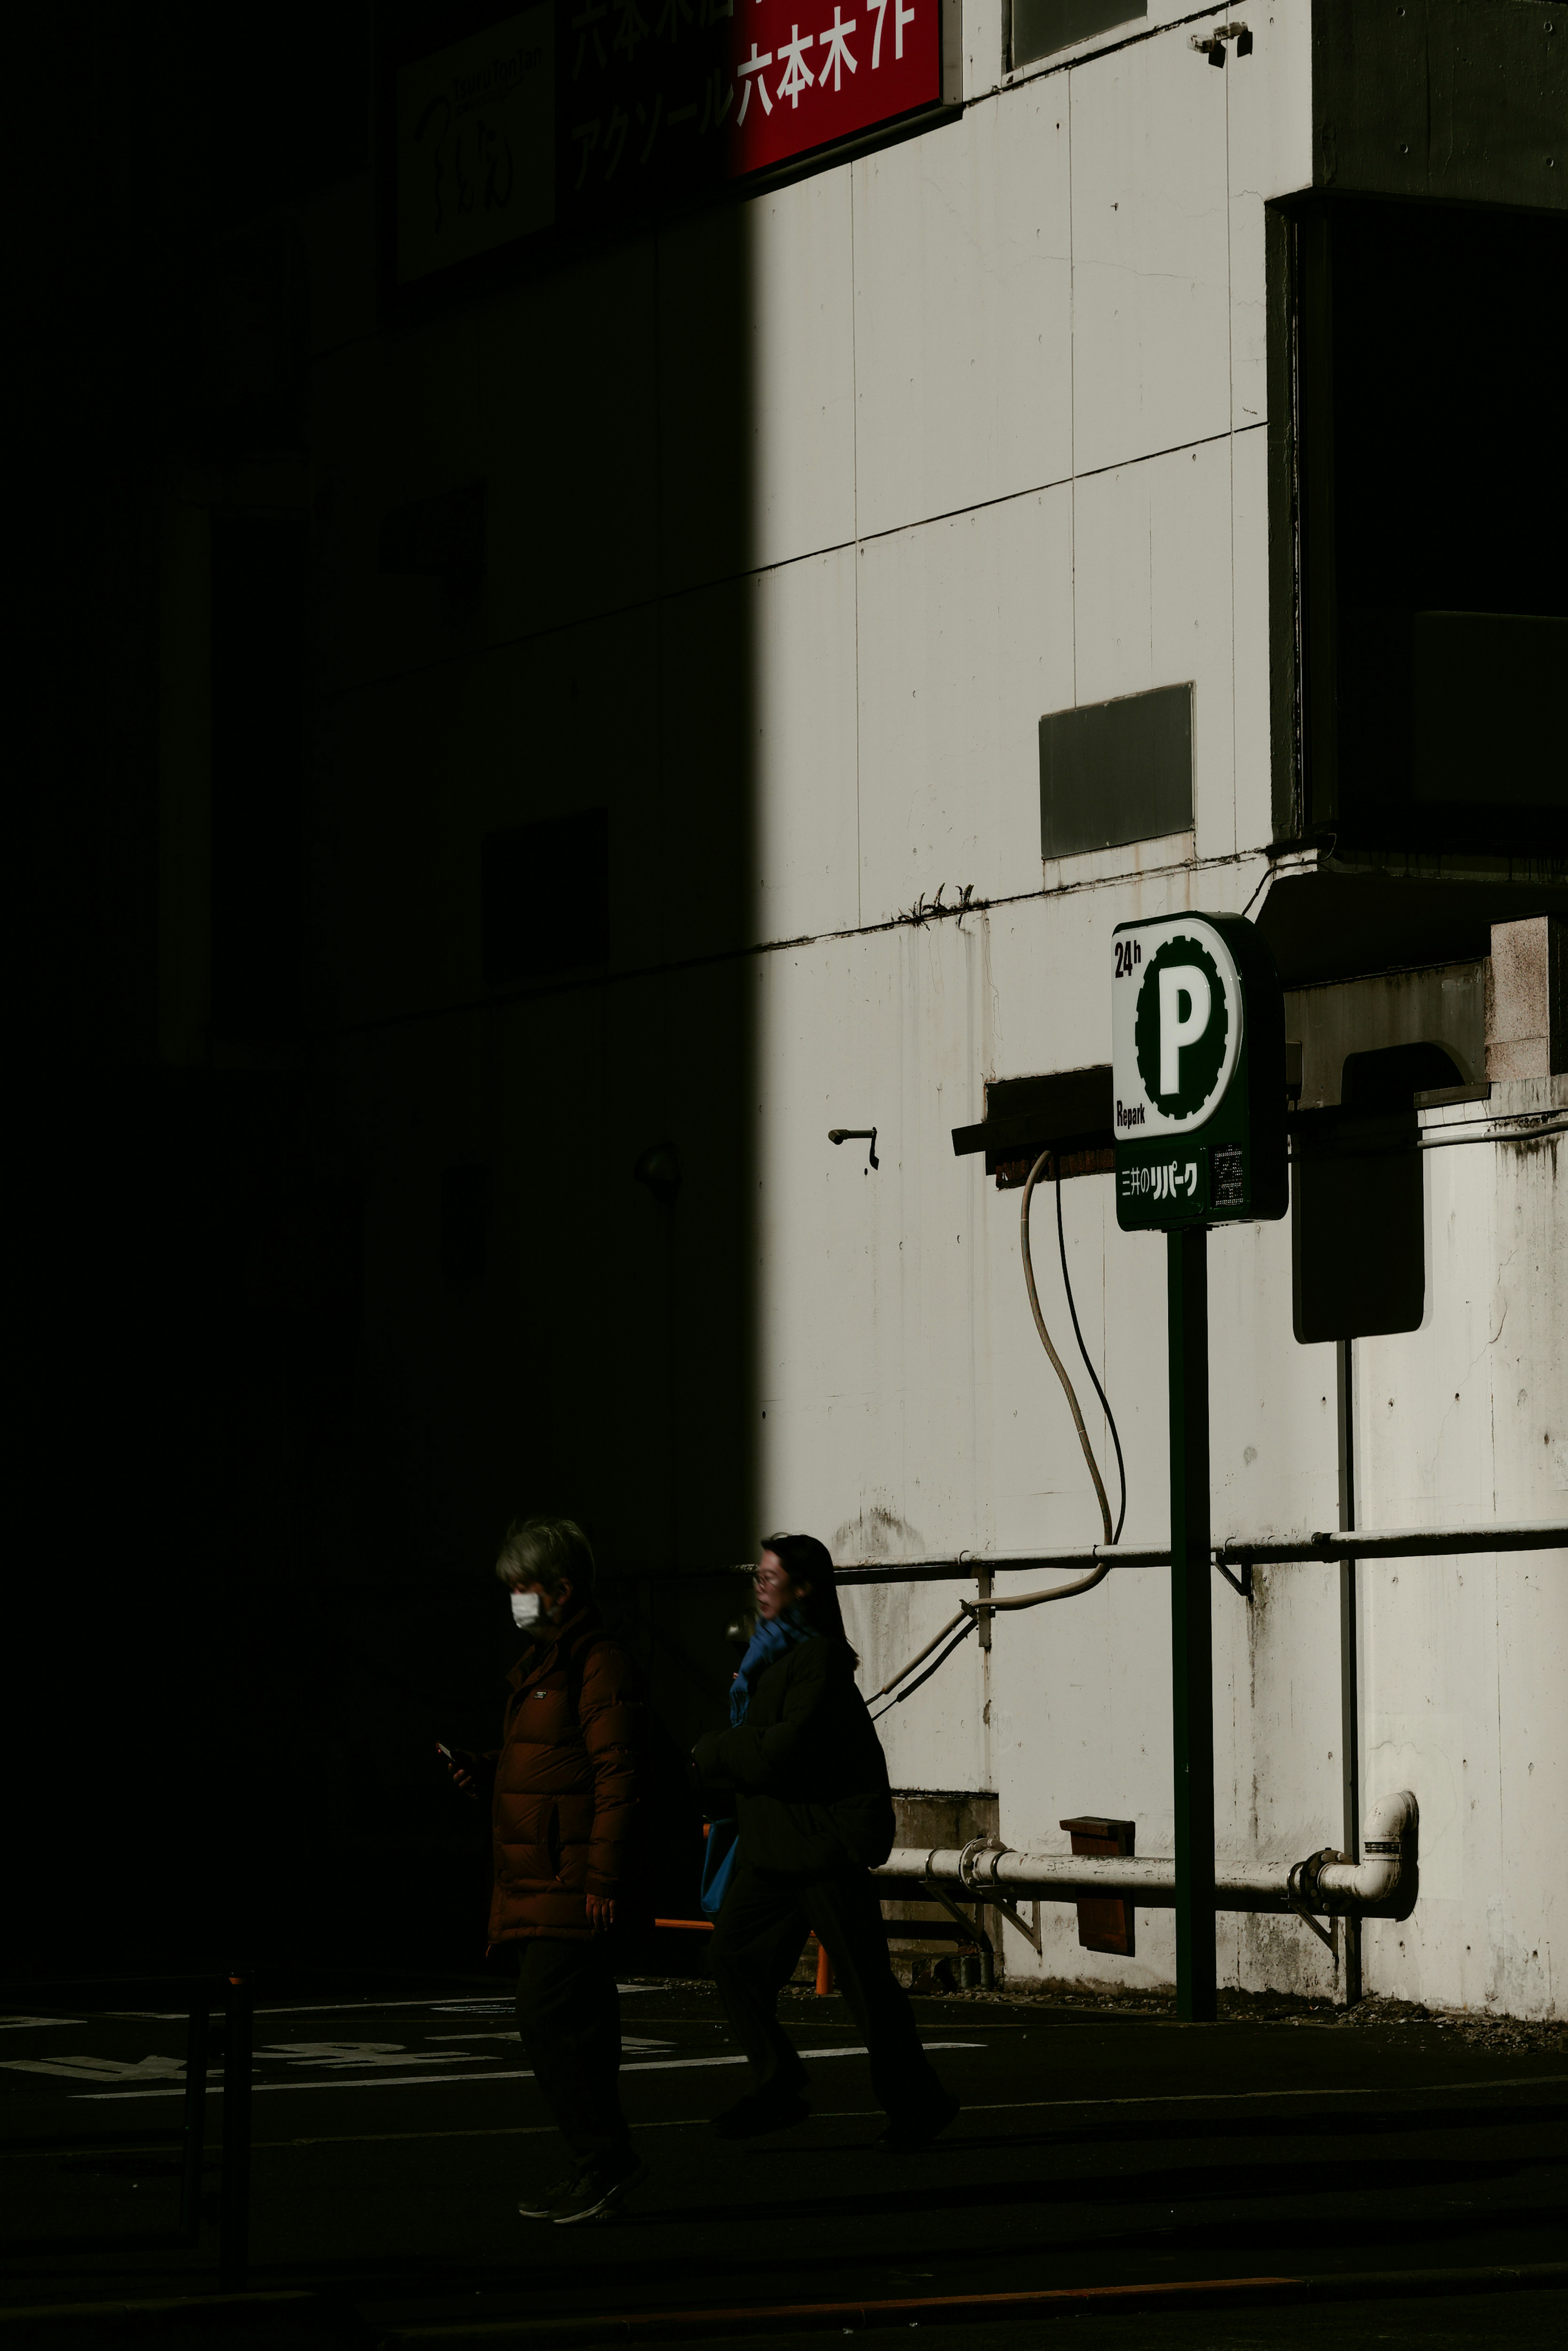
{"type": "Polygon", "coordinates": [[[306,534],[212,517],[212,1025],[301,1018],[306,534]]]}

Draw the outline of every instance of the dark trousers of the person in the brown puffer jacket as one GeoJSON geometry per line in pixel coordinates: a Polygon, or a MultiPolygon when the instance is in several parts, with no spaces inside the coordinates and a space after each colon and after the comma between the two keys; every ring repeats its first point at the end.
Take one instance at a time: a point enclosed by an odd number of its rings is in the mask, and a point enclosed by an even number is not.
{"type": "Polygon", "coordinates": [[[616,1963],[592,1942],[534,1935],[517,1961],[517,2034],[555,2125],[578,2158],[625,2156],[616,1963]]]}

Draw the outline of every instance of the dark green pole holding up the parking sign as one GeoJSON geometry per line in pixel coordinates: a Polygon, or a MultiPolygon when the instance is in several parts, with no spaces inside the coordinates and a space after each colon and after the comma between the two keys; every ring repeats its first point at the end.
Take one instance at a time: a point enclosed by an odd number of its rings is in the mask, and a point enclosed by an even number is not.
{"type": "Polygon", "coordinates": [[[1208,1232],[1166,1234],[1171,1335],[1171,1735],[1175,2015],[1213,2024],[1213,1568],[1208,1563],[1208,1232]]]}

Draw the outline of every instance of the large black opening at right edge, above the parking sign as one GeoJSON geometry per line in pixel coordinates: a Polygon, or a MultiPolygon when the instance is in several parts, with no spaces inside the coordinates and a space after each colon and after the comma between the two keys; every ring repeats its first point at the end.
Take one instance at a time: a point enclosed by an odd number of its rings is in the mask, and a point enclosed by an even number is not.
{"type": "Polygon", "coordinates": [[[1295,268],[1298,816],[1345,849],[1561,853],[1568,226],[1335,200],[1274,252],[1295,268]]]}

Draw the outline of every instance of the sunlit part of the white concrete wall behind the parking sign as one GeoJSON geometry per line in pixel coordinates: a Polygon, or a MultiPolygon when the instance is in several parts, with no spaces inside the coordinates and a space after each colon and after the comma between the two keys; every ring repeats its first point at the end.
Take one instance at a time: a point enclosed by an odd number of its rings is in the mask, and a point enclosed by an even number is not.
{"type": "MultiPolygon", "coordinates": [[[[799,877],[790,931],[858,931],[757,964],[762,1519],[816,1528],[842,1559],[1098,1533],[1027,1312],[1018,1194],[954,1159],[950,1128],[980,1114],[987,1077],[1105,1060],[1110,929],[1241,910],[1269,837],[1262,202],[1307,179],[1307,9],[1276,7],[1225,75],[1190,31],[1107,38],[1107,54],[1020,75],[952,129],[757,207],[766,268],[799,270],[795,296],[769,287],[769,334],[832,299],[853,376],[853,416],[835,404],[853,585],[832,571],[832,649],[823,637],[809,672],[762,607],[755,639],[769,705],[795,708],[799,682],[818,731],[811,790],[783,813],[762,799],[764,839],[799,877]],[[811,223],[797,242],[790,212],[811,223]],[[1194,835],[1063,860],[1037,896],[1039,715],[1187,677],[1194,835]],[[802,846],[846,842],[851,764],[853,919],[842,851],[806,877],[802,846]],[[844,797],[825,813],[827,773],[844,797]],[[872,929],[938,884],[1023,903],[872,929]],[[867,1173],[827,1128],[872,1121],[867,1173]]],[[[980,66],[971,19],[971,87],[994,87],[980,66]]],[[[766,496],[788,508],[771,430],[783,451],[804,423],[762,426],[766,496]]],[[[1361,1349],[1363,1523],[1561,1509],[1552,1448],[1537,1460],[1521,1434],[1528,1396],[1547,1420],[1568,1396],[1554,1185],[1544,1150],[1429,1154],[1427,1326],[1361,1349]]],[[[1037,1218],[1044,1310],[1070,1338],[1048,1197],[1037,1218]]],[[[1065,1220],[1128,1462],[1126,1533],[1154,1542],[1164,1251],[1117,1232],[1107,1178],[1067,1185],[1065,1220]]],[[[1211,1265],[1215,1533],[1331,1526],[1333,1349],[1291,1335],[1288,1225],[1218,1234],[1211,1265]]],[[[1110,1474],[1098,1411],[1091,1432],[1110,1474]]],[[[1368,1933],[1371,1989],[1561,2012],[1561,1568],[1363,1570],[1363,1787],[1415,1787],[1427,1838],[1415,1918],[1368,1933]]],[[[856,1594],[865,1686],[952,1606],[943,1585],[856,1594]]],[[[999,1620],[990,1662],[964,1648],[884,1737],[896,1784],[997,1789],[1011,1843],[1060,1850],[1065,1813],[1105,1810],[1168,1853],[1164,1578],[1119,1573],[1081,1603],[999,1620]]],[[[1335,1573],[1260,1570],[1251,1608],[1218,1585],[1220,1850],[1286,1862],[1338,1838],[1338,1744],[1335,1573]]],[[[1159,1914],[1140,1916],[1135,1961],[1081,1954],[1065,1907],[1044,1925],[1048,1975],[1171,1975],[1159,1914]]],[[[1009,1965],[1037,1968],[1016,1937],[1009,1965]]],[[[1295,1921],[1225,1921],[1220,1965],[1253,1987],[1333,1984],[1295,1921]]]]}

